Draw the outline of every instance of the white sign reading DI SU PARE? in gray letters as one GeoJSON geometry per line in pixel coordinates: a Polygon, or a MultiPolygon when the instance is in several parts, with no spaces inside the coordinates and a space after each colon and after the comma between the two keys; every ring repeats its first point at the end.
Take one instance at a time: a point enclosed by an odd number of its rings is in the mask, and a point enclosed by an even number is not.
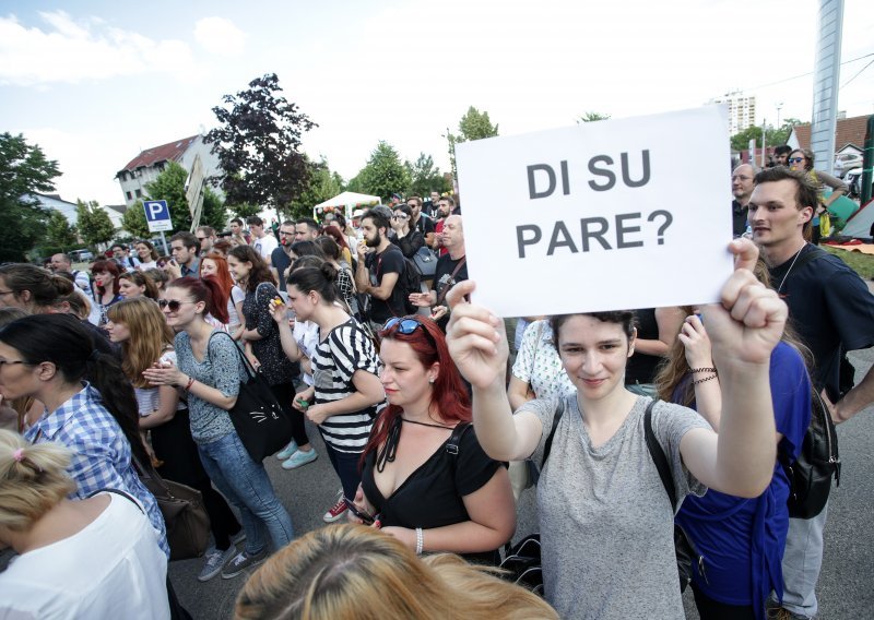
{"type": "Polygon", "coordinates": [[[732,271],[725,106],[456,146],[468,273],[501,317],[708,303],[732,271]]]}

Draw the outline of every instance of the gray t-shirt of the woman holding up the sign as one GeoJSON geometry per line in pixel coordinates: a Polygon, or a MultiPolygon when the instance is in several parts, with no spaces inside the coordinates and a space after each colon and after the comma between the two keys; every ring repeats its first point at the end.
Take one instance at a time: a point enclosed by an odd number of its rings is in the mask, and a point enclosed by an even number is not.
{"type": "MultiPolygon", "coordinates": [[[[576,394],[565,413],[538,485],[546,599],[562,618],[684,618],[674,555],[674,511],[647,450],[637,400],[616,433],[592,448],[576,394]]],[[[543,458],[558,401],[531,401],[543,424],[532,455],[543,458]]],[[[677,500],[707,490],[683,466],[680,440],[710,428],[697,413],[670,403],[652,410],[652,429],[671,464],[677,500]]]]}

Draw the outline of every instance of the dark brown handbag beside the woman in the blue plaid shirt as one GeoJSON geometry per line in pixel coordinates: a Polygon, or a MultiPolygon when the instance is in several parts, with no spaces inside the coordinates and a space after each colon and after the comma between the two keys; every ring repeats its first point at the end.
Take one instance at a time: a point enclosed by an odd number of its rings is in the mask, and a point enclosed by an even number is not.
{"type": "Polygon", "coordinates": [[[131,461],[140,481],[155,496],[164,516],[170,560],[200,558],[210,542],[210,516],[203,505],[201,492],[181,482],[165,480],[151,464],[145,468],[133,455],[131,461]]]}

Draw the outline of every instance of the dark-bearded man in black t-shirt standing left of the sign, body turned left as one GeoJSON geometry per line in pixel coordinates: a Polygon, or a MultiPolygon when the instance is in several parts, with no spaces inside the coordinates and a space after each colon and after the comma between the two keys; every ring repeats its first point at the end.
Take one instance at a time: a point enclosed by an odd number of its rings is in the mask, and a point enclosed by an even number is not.
{"type": "Polygon", "coordinates": [[[364,243],[358,243],[355,285],[358,293],[370,297],[367,315],[375,332],[390,318],[406,314],[405,291],[398,284],[406,265],[400,248],[389,241],[390,226],[389,219],[376,210],[362,216],[364,243]]]}

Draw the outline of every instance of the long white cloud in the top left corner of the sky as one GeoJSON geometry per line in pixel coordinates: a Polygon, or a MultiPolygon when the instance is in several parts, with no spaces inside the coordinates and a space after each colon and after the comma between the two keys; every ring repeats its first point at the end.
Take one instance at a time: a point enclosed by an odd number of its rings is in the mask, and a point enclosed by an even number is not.
{"type": "Polygon", "coordinates": [[[0,84],[78,83],[121,75],[191,72],[193,58],[180,40],[154,40],[102,20],[74,22],[63,11],[40,12],[47,28],[0,17],[0,84]]]}

